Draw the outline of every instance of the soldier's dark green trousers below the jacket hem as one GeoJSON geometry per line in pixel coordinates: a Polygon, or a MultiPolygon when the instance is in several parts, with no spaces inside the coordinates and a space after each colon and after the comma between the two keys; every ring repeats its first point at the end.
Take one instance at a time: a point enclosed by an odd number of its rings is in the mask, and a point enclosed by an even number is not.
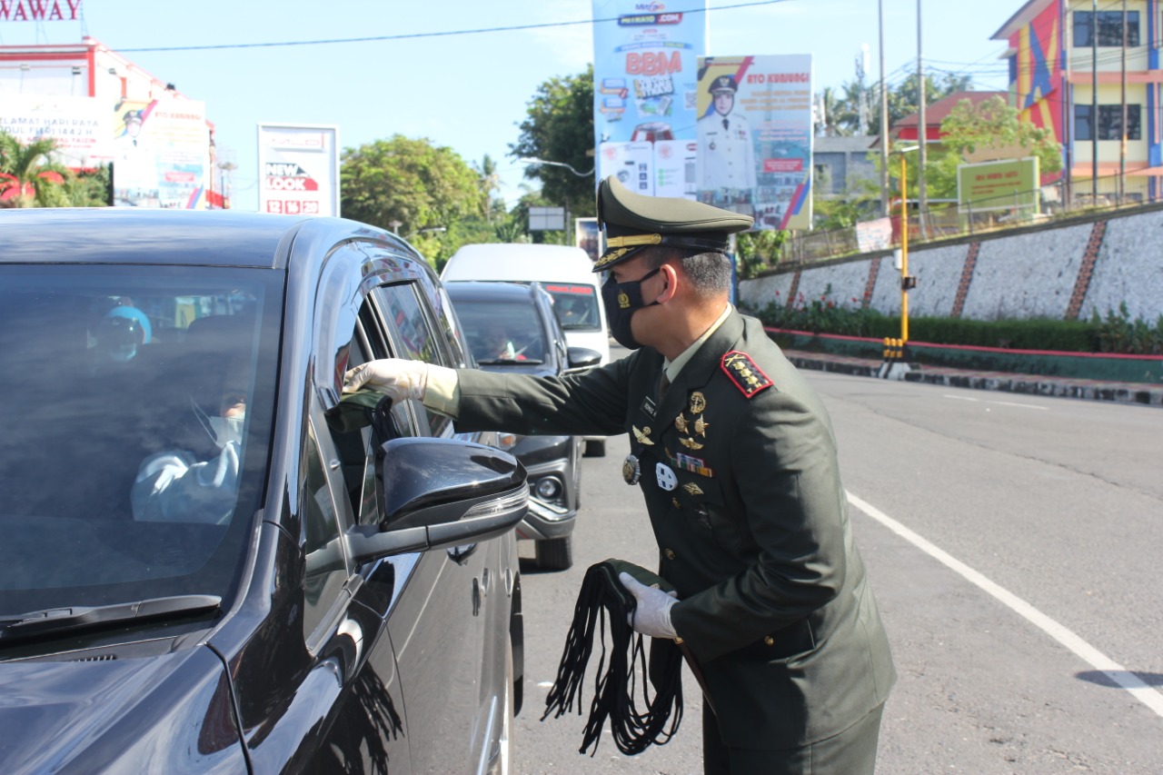
{"type": "Polygon", "coordinates": [[[872,775],[883,712],[878,705],[840,734],[802,748],[757,751],[723,745],[719,720],[704,704],[704,775],[872,775]]]}

